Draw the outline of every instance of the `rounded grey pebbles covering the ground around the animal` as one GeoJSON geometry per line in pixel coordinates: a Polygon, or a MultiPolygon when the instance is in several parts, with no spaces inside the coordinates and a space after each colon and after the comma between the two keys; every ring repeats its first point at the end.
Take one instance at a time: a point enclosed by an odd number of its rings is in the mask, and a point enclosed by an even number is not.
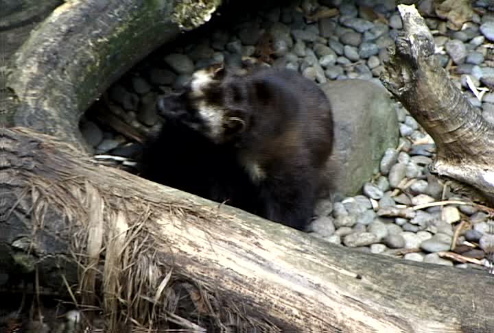
{"type": "MultiPolygon", "coordinates": [[[[183,86],[191,73],[222,62],[226,52],[241,52],[272,66],[296,69],[322,84],[360,78],[380,84],[386,47],[394,43],[401,18],[394,1],[301,1],[231,18],[228,29],[206,25],[171,49],[156,51],[108,90],[112,112],[141,133],[155,130],[156,95],[183,86]],[[338,8],[338,12],[334,11],[338,8]],[[335,15],[336,14],[336,15],[335,15]],[[234,22],[235,24],[233,24],[234,22]],[[266,32],[270,49],[263,47],[266,32]],[[186,39],[186,40],[185,40],[186,39]]],[[[427,12],[422,1],[422,10],[427,12]]],[[[494,14],[489,1],[473,1],[473,17],[450,29],[451,22],[427,18],[436,55],[469,101],[494,123],[494,14]],[[479,99],[469,87],[471,79],[479,99]]],[[[214,19],[213,19],[214,20],[214,19]]],[[[226,18],[228,22],[228,18],[226,18]]],[[[471,202],[427,172],[436,147],[406,110],[397,107],[400,143],[384,154],[372,182],[362,195],[333,205],[322,201],[312,227],[314,236],[331,243],[405,260],[432,262],[467,269],[493,267],[494,221],[475,206],[437,201],[471,202]],[[427,204],[429,205],[427,207],[427,204]],[[423,205],[422,209],[416,206],[423,205]],[[326,209],[325,209],[326,207],[326,209]],[[453,240],[456,246],[451,249],[453,240]]],[[[102,123],[84,120],[81,130],[95,153],[132,158],[138,143],[105,130],[102,123]]]]}

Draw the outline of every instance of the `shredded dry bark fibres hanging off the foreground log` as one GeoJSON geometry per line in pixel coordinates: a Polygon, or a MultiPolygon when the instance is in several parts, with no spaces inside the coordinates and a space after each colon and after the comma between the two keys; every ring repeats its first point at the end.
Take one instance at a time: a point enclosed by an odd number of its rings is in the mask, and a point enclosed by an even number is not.
{"type": "Polygon", "coordinates": [[[167,244],[148,223],[154,210],[163,214],[166,207],[169,219],[211,219],[211,213],[184,201],[142,202],[130,212],[124,199],[113,202],[115,193],[80,177],[30,182],[34,230],[44,227],[51,209],[66,217],[79,276],[75,286],[64,283],[84,325],[104,332],[279,332],[185,275],[173,256],[163,259],[167,244]]]}

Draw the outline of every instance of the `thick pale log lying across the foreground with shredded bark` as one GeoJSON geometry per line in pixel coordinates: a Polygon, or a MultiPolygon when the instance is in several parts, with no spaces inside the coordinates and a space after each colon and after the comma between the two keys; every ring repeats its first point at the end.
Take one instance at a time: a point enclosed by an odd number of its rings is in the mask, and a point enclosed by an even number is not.
{"type": "Polygon", "coordinates": [[[486,272],[331,245],[95,164],[32,130],[6,129],[0,140],[8,257],[0,263],[37,269],[41,284],[54,287],[65,275],[102,290],[97,296],[121,312],[132,308],[119,303],[132,288],[163,306],[172,272],[249,322],[284,332],[494,332],[494,278],[486,272]]]}

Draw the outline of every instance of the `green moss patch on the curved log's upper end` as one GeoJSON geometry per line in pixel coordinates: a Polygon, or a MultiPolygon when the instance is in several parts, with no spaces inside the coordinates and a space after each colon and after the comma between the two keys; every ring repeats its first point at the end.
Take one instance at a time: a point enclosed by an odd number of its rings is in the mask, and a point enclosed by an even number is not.
{"type": "Polygon", "coordinates": [[[172,18],[180,29],[191,30],[211,19],[221,0],[177,1],[172,18]]]}

